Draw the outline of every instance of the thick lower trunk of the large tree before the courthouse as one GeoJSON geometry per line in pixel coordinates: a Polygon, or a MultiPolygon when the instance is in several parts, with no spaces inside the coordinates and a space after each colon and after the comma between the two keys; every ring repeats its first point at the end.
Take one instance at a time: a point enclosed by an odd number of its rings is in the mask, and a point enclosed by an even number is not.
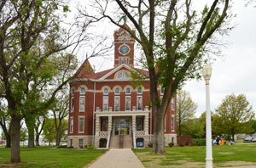
{"type": "Polygon", "coordinates": [[[164,144],[164,115],[162,113],[154,112],[154,141],[153,141],[153,154],[166,154],[164,144]],[[156,120],[157,118],[157,120],[156,120]]]}

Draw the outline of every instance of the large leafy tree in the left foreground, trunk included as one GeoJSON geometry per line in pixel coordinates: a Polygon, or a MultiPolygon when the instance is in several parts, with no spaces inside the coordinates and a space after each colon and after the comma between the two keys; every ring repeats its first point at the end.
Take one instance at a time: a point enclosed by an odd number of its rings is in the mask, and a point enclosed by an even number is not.
{"type": "Polygon", "coordinates": [[[49,109],[55,94],[73,79],[73,76],[66,76],[67,70],[74,65],[72,53],[79,42],[84,41],[86,26],[73,31],[75,25],[71,25],[65,30],[65,26],[61,26],[63,13],[57,14],[58,8],[63,8],[64,14],[68,11],[61,1],[0,2],[0,96],[5,98],[11,118],[11,163],[20,163],[20,120],[34,115],[35,111],[49,109]],[[71,52],[65,52],[72,46],[71,52]],[[55,73],[51,71],[52,66],[62,66],[58,61],[68,64],[62,71],[66,77],[55,80],[57,85],[51,85],[50,97],[39,104],[42,92],[39,94],[34,88],[52,79],[55,73]]]}

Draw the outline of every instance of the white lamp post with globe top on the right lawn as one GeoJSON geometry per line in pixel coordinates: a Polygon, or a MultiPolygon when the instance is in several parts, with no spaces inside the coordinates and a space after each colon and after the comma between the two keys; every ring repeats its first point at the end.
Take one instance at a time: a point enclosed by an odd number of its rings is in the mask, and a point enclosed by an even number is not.
{"type": "Polygon", "coordinates": [[[206,95],[207,95],[207,158],[206,158],[206,168],[212,168],[212,124],[211,124],[211,110],[210,110],[210,78],[212,75],[212,68],[210,65],[205,66],[202,69],[202,75],[206,81],[206,95]]]}

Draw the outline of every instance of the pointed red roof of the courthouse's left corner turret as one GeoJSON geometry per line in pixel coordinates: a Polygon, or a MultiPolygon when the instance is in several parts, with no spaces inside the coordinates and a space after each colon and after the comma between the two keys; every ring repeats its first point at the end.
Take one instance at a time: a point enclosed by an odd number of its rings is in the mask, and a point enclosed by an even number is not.
{"type": "Polygon", "coordinates": [[[84,63],[81,64],[79,70],[76,71],[74,76],[76,76],[77,78],[96,79],[96,74],[92,69],[88,59],[84,60],[84,63]]]}

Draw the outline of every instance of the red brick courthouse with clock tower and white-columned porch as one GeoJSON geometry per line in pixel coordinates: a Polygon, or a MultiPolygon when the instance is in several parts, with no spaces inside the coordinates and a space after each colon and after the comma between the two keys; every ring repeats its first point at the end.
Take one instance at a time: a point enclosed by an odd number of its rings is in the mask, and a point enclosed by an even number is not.
{"type": "MultiPolygon", "coordinates": [[[[127,25],[125,25],[127,26],[127,25]]],[[[128,27],[128,26],[127,26],[128,27]]],[[[122,28],[114,31],[113,68],[95,73],[85,60],[70,82],[68,146],[96,148],[147,147],[154,134],[154,113],[148,109],[149,74],[134,67],[135,40],[122,28]],[[131,84],[131,72],[146,77],[131,84]]],[[[159,94],[162,94],[159,86],[159,94]]],[[[176,100],[165,119],[165,144],[177,143],[176,100]]]]}

